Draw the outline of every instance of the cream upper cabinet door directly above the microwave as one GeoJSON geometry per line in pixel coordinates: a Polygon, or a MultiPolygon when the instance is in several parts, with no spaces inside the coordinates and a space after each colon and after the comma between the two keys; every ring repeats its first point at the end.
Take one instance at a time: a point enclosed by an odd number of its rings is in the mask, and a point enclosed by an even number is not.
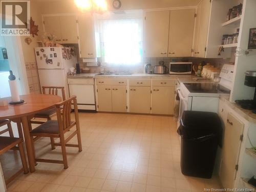
{"type": "Polygon", "coordinates": [[[168,57],[190,57],[195,23],[195,9],[171,10],[168,57]]]}

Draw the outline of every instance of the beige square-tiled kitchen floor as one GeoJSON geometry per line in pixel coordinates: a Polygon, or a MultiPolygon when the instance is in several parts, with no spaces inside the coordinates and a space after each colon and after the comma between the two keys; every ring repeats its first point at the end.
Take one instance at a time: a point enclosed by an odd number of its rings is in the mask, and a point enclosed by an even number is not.
{"type": "MultiPolygon", "coordinates": [[[[38,163],[8,191],[185,192],[219,188],[218,178],[186,177],[180,170],[180,143],[173,117],[80,113],[83,151],[67,147],[69,168],[38,163]]],[[[76,138],[70,142],[76,143],[76,138]]],[[[36,141],[36,154],[61,159],[50,139],[36,141]]],[[[0,156],[6,177],[20,166],[17,152],[0,156]]]]}

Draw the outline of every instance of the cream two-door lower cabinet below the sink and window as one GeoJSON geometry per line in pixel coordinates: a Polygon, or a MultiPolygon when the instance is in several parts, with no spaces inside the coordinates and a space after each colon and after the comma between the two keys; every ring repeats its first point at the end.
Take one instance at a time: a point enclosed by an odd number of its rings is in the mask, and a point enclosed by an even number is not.
{"type": "Polygon", "coordinates": [[[125,86],[98,86],[98,111],[126,112],[125,86]]]}

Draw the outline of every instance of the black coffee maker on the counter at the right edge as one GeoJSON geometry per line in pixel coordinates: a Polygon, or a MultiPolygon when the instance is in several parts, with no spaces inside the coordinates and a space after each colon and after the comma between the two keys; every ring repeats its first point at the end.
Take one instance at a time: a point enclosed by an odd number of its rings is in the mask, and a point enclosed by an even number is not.
{"type": "MultiPolygon", "coordinates": [[[[253,88],[256,87],[256,71],[245,72],[244,84],[245,86],[248,86],[248,87],[253,87],[253,88]]],[[[256,110],[256,88],[255,88],[253,100],[242,99],[242,100],[236,100],[235,102],[238,103],[243,109],[256,110]]]]}

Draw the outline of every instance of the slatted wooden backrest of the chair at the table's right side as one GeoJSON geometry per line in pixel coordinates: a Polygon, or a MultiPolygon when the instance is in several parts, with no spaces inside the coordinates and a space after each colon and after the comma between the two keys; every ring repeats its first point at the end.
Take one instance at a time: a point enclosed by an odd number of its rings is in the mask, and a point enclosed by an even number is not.
{"type": "Polygon", "coordinates": [[[76,103],[76,96],[72,96],[70,99],[57,103],[55,106],[57,108],[57,117],[59,122],[59,129],[65,131],[71,125],[71,104],[76,103]],[[61,112],[62,110],[62,112],[61,112]],[[61,122],[61,123],[60,123],[61,122]]]}

